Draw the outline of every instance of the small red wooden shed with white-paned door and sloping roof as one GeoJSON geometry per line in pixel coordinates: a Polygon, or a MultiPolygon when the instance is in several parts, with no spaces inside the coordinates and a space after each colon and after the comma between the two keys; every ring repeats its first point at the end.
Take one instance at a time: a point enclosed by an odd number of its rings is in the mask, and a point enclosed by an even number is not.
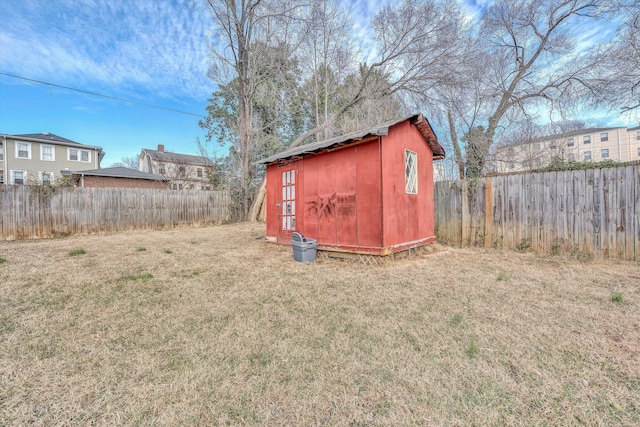
{"type": "Polygon", "coordinates": [[[263,159],[267,239],[297,231],[320,250],[374,255],[433,242],[433,160],[444,156],[414,114],[263,159]]]}

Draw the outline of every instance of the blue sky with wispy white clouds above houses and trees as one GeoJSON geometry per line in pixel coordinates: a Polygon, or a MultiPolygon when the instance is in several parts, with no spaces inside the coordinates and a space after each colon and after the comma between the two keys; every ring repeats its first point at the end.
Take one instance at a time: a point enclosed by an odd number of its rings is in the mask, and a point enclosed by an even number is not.
{"type": "MultiPolygon", "coordinates": [[[[389,0],[352,0],[367,23],[389,0]]],[[[470,17],[490,0],[462,0],[470,17]]],[[[198,0],[0,1],[0,72],[204,115],[211,21],[198,0]]],[[[0,75],[0,133],[103,147],[102,167],[164,144],[195,154],[199,117],[0,75]]],[[[610,117],[602,120],[612,123],[610,117]]],[[[220,149],[219,154],[224,154],[220,149]]]]}

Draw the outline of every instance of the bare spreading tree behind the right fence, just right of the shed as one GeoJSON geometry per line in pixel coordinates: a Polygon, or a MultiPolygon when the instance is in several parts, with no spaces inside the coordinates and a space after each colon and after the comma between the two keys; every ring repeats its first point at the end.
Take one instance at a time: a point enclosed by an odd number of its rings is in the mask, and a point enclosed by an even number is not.
{"type": "Polygon", "coordinates": [[[505,121],[527,115],[541,103],[551,110],[562,108],[563,101],[584,88],[593,64],[581,60],[583,52],[569,29],[603,19],[612,6],[607,0],[496,0],[486,10],[474,44],[481,56],[473,57],[482,78],[474,77],[472,108],[458,114],[466,118],[466,126],[458,126],[466,148],[466,176],[482,174],[505,121]]]}

